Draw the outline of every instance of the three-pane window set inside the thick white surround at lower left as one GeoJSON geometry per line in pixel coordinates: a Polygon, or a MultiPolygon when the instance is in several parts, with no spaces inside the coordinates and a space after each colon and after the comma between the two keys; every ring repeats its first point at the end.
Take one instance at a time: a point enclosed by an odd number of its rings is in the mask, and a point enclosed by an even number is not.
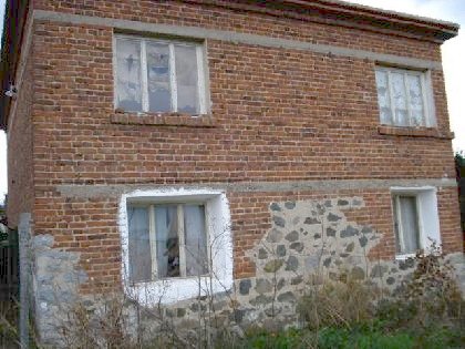
{"type": "Polygon", "coordinates": [[[203,204],[130,204],[127,224],[132,283],[208,274],[203,204]]]}

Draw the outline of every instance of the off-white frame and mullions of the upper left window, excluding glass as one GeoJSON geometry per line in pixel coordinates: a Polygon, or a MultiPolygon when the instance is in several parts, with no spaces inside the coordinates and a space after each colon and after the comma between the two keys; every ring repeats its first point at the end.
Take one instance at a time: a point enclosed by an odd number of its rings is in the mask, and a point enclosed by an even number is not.
{"type": "MultiPolygon", "coordinates": [[[[113,105],[114,107],[117,106],[117,62],[116,62],[116,54],[117,54],[117,44],[116,41],[118,39],[126,39],[133,41],[141,42],[141,91],[142,91],[142,113],[161,113],[156,111],[149,111],[149,102],[148,102],[148,79],[147,79],[147,54],[146,54],[146,47],[147,42],[154,43],[163,43],[167,44],[169,49],[169,86],[170,86],[170,105],[172,110],[168,113],[177,113],[177,81],[176,81],[176,57],[175,57],[175,45],[185,45],[190,48],[196,48],[196,60],[197,60],[197,89],[198,89],[198,105],[199,112],[198,114],[194,114],[193,116],[203,115],[208,113],[207,106],[207,62],[205,60],[205,45],[199,42],[194,41],[180,41],[180,40],[168,40],[168,39],[152,39],[152,38],[144,38],[138,35],[128,35],[128,34],[113,34],[113,105]]],[[[125,111],[126,112],[126,111],[125,111]]],[[[127,111],[127,112],[135,112],[137,111],[127,111]]],[[[140,112],[141,113],[141,112],[140,112]]],[[[166,113],[166,112],[164,112],[166,113]]]]}

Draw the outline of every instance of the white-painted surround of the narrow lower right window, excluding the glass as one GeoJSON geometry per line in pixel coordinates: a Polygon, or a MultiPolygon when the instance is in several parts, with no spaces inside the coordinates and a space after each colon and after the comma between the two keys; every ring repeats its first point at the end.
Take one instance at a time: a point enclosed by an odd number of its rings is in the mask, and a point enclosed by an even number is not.
{"type": "MultiPolygon", "coordinates": [[[[392,217],[393,217],[393,227],[395,229],[395,217],[400,217],[399,212],[394,213],[394,209],[400,209],[400,205],[394,205],[394,201],[399,199],[399,196],[413,196],[415,197],[416,203],[416,214],[417,214],[417,225],[418,225],[418,247],[421,249],[427,250],[432,247],[433,242],[437,245],[441,245],[441,229],[440,229],[440,216],[437,211],[437,196],[436,188],[433,186],[423,186],[423,187],[392,187],[391,197],[392,197],[392,217]]],[[[400,229],[400,238],[402,227],[400,229]]],[[[395,238],[395,236],[394,236],[395,238]]],[[[397,254],[395,252],[396,259],[406,259],[414,257],[415,253],[410,254],[397,254]]]]}

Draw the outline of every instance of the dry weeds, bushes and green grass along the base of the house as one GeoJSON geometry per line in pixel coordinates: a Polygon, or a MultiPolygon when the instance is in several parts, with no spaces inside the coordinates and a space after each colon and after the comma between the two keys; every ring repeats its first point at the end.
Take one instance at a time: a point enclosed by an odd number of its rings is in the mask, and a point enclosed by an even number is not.
{"type": "MultiPolygon", "coordinates": [[[[373,279],[352,279],[343,270],[338,278],[312,277],[297,307],[300,328],[238,332],[227,324],[207,329],[200,326],[206,322],[199,321],[188,338],[158,307],[151,314],[141,308],[140,314],[158,324],[156,332],[144,335],[141,324],[136,332],[128,333],[125,329],[134,318],[128,319],[125,311],[134,302],[123,295],[108,295],[97,308],[73,306],[60,332],[70,349],[465,348],[465,300],[451,264],[433,244],[427,254],[416,255],[415,265],[410,278],[391,296],[373,279]]],[[[7,317],[2,319],[0,332],[14,342],[14,326],[7,317]]]]}

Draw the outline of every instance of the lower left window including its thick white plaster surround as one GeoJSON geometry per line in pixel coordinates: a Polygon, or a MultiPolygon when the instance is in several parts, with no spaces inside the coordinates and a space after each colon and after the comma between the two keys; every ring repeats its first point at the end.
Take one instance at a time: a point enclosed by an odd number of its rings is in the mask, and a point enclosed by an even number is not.
{"type": "Polygon", "coordinates": [[[161,188],[120,203],[122,278],[145,305],[170,304],[232,287],[232,237],[226,194],[161,188]]]}

